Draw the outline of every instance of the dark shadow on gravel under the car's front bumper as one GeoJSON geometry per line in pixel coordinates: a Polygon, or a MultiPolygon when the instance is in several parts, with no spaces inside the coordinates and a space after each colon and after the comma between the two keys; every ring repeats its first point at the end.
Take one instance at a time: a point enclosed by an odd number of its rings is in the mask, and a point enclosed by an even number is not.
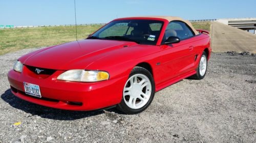
{"type": "MultiPolygon", "coordinates": [[[[4,94],[1,95],[1,98],[11,105],[14,108],[23,110],[31,115],[25,115],[28,117],[31,116],[40,116],[41,118],[47,118],[52,120],[77,120],[82,118],[87,118],[91,116],[100,115],[105,113],[104,110],[95,110],[95,111],[72,111],[72,110],[61,110],[50,107],[45,107],[37,105],[34,103],[27,102],[25,100],[19,99],[11,93],[11,90],[8,89],[4,94]]],[[[116,109],[107,109],[107,111],[113,111],[120,113],[116,109]]]]}

